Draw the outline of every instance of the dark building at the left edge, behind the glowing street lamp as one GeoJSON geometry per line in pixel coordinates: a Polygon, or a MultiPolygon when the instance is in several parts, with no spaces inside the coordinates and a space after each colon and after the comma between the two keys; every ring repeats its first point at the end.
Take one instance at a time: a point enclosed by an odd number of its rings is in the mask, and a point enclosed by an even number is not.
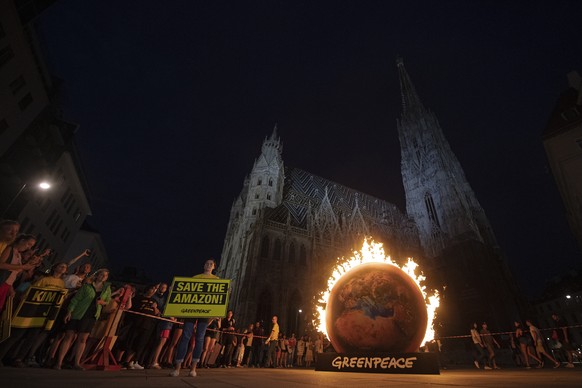
{"type": "Polygon", "coordinates": [[[91,215],[78,126],[62,117],[59,83],[36,36],[36,17],[51,3],[0,2],[0,218],[19,221],[37,248],[53,250],[46,265],[72,258],[69,248],[91,215]],[[38,190],[41,180],[51,188],[38,190]]]}

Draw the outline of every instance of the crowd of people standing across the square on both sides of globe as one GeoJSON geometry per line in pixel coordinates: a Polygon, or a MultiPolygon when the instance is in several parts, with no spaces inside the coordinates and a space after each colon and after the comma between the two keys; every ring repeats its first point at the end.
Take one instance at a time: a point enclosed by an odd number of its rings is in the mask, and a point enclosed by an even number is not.
{"type": "MultiPolygon", "coordinates": [[[[197,368],[210,367],[310,368],[330,347],[322,334],[286,335],[277,316],[268,324],[243,325],[233,311],[224,318],[163,317],[169,291],[166,283],[151,284],[138,292],[131,284],[114,287],[105,268],[93,272],[90,263],[82,263],[72,270],[90,255],[89,250],[68,262],[54,263],[48,271],[40,270],[50,250],[38,252],[35,236],[18,232],[18,222],[0,221],[0,313],[9,301],[17,306],[31,286],[67,292],[50,330],[12,328],[10,336],[0,343],[0,363],[84,370],[94,364],[93,356],[113,344],[111,354],[124,368],[168,368],[170,376],[188,369],[189,376],[196,376],[197,368]]],[[[207,260],[203,272],[194,278],[216,279],[215,267],[214,260],[207,260]]],[[[551,338],[557,344],[552,349],[572,368],[574,348],[568,329],[556,314],[552,319],[556,329],[551,338]]],[[[509,336],[516,365],[530,369],[535,361],[535,367],[542,368],[544,360],[549,360],[554,368],[559,367],[540,329],[531,320],[525,323],[526,328],[515,322],[515,331],[509,336]]],[[[480,328],[473,323],[471,340],[475,367],[500,369],[496,362],[500,343],[487,323],[480,328]]],[[[441,342],[435,340],[424,350],[440,353],[441,342]]]]}

